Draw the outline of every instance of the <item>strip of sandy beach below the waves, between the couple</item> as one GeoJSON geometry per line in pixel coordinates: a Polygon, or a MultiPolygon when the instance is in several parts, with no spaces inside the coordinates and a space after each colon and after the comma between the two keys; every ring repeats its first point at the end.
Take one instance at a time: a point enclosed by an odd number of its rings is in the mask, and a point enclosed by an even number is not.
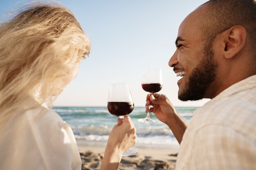
{"type": "MultiPolygon", "coordinates": [[[[82,170],[99,170],[106,142],[76,140],[82,159],[82,170]]],[[[119,170],[171,170],[176,163],[177,146],[136,144],[138,152],[122,157],[119,170]]]]}

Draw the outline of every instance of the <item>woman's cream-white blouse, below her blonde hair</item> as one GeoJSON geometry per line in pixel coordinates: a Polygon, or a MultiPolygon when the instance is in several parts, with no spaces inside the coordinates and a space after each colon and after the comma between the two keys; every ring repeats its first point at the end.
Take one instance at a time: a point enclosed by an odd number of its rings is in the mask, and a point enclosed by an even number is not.
{"type": "Polygon", "coordinates": [[[72,129],[42,106],[16,114],[1,130],[0,170],[81,170],[72,129]]]}

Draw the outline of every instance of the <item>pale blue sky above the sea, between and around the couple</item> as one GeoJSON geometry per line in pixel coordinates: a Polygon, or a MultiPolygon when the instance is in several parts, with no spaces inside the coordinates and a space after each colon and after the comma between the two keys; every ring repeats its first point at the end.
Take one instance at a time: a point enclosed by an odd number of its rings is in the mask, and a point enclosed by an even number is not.
{"type": "MultiPolygon", "coordinates": [[[[209,99],[182,102],[168,61],[175,52],[180,23],[208,0],[58,0],[69,8],[91,40],[79,75],[54,106],[106,106],[109,84],[127,82],[136,106],[145,106],[141,80],[146,66],[162,68],[163,88],[174,106],[202,106],[209,99]]],[[[32,1],[1,0],[2,18],[32,1]]],[[[41,1],[44,2],[44,1],[41,1]]]]}

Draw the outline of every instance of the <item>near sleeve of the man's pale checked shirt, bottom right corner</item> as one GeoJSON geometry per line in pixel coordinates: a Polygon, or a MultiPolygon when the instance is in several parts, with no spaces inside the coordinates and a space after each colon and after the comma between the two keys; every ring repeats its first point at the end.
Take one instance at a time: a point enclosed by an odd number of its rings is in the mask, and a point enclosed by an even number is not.
{"type": "Polygon", "coordinates": [[[255,170],[256,143],[223,125],[198,130],[193,142],[193,170],[255,170]]]}

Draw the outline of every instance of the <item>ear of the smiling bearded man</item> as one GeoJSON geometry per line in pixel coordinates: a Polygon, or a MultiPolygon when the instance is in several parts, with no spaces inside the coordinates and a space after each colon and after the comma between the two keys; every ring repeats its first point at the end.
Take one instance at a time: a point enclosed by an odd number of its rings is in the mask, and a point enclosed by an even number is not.
{"type": "Polygon", "coordinates": [[[223,55],[226,59],[234,57],[245,45],[246,30],[243,26],[232,26],[223,32],[224,46],[223,55]]]}

